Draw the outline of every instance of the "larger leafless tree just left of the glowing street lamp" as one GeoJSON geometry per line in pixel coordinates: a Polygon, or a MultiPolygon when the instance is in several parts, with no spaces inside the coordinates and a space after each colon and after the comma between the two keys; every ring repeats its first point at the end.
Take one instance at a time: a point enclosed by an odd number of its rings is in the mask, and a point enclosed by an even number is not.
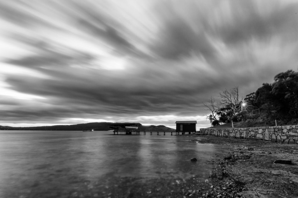
{"type": "Polygon", "coordinates": [[[237,110],[241,108],[239,104],[240,101],[243,100],[243,98],[239,99],[238,86],[230,89],[229,91],[226,89],[223,92],[219,93],[219,98],[221,100],[218,102],[218,105],[222,107],[230,107],[234,115],[236,115],[237,110]]]}

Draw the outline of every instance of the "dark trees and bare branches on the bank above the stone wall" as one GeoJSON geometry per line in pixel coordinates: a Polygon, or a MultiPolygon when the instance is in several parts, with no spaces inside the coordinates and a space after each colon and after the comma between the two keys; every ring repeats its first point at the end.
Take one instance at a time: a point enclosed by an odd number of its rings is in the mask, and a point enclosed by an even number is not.
{"type": "Polygon", "coordinates": [[[298,72],[287,70],[274,76],[272,84],[263,83],[255,92],[239,96],[238,87],[219,93],[219,100],[210,97],[203,103],[205,115],[212,125],[243,121],[243,127],[298,123],[298,72]]]}

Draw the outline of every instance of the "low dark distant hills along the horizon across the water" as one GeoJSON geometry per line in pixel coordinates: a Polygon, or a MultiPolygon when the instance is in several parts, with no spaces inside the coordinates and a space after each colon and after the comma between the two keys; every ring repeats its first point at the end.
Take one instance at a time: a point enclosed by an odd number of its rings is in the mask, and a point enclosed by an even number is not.
{"type": "MultiPolygon", "coordinates": [[[[36,130],[36,131],[82,131],[90,130],[94,131],[108,131],[111,130],[108,124],[112,122],[90,122],[85,124],[76,125],[54,125],[54,126],[39,126],[39,127],[11,127],[1,126],[0,130],[36,130]]],[[[164,125],[140,125],[141,131],[175,131],[175,129],[168,128],[164,125]]]]}

